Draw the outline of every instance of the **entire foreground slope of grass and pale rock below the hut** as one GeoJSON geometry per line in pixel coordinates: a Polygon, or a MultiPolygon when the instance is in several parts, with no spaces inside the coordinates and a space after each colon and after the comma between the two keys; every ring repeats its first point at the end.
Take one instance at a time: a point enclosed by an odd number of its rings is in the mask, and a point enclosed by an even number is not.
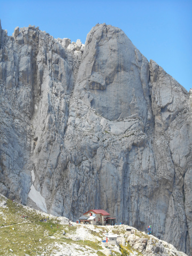
{"type": "Polygon", "coordinates": [[[0,254],[41,256],[187,256],[171,244],[127,225],[97,226],[22,206],[0,194],[0,254]],[[126,229],[132,229],[127,234],[126,229]],[[117,244],[102,243],[105,234],[117,244]],[[27,238],[27,239],[26,239],[27,238]]]}

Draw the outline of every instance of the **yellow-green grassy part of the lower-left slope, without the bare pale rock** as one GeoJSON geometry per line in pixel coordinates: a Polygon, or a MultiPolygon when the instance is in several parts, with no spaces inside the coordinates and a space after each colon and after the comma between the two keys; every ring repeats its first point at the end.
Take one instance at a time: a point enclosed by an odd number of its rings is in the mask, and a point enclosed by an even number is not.
{"type": "MultiPolygon", "coordinates": [[[[3,200],[0,196],[0,202],[3,200]]],[[[50,217],[47,222],[41,222],[42,219],[45,217],[40,212],[7,199],[6,208],[0,208],[0,255],[10,255],[10,249],[13,250],[13,255],[51,255],[54,250],[58,251],[57,244],[77,244],[82,249],[88,246],[89,251],[102,249],[97,243],[89,240],[73,241],[65,238],[63,230],[66,234],[71,234],[75,232],[76,227],[60,225],[57,217],[50,217]]],[[[97,254],[104,255],[101,252],[97,254]]]]}

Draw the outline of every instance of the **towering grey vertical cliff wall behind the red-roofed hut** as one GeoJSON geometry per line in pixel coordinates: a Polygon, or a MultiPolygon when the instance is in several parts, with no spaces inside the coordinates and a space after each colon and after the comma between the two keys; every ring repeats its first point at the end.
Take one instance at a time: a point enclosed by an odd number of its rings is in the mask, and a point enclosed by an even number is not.
{"type": "Polygon", "coordinates": [[[103,208],[190,254],[192,94],[119,28],[0,39],[0,193],[70,219],[103,208]]]}

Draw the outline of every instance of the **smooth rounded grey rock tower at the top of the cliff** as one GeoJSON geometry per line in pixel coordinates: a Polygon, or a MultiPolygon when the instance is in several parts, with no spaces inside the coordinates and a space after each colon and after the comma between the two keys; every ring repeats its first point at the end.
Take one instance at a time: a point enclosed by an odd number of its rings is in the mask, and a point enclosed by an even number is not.
{"type": "Polygon", "coordinates": [[[92,108],[112,121],[138,115],[145,122],[142,83],[145,87],[148,80],[147,59],[121,29],[106,25],[91,29],[76,84],[80,92],[90,91],[92,108]]]}

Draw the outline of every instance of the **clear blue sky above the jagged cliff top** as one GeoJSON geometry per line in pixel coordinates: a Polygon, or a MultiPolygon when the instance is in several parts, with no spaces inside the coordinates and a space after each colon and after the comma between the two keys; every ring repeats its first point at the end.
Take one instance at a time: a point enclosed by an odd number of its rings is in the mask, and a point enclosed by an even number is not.
{"type": "Polygon", "coordinates": [[[0,0],[0,18],[8,35],[30,24],[82,43],[97,23],[119,27],[148,60],[192,88],[192,0],[0,0]]]}

